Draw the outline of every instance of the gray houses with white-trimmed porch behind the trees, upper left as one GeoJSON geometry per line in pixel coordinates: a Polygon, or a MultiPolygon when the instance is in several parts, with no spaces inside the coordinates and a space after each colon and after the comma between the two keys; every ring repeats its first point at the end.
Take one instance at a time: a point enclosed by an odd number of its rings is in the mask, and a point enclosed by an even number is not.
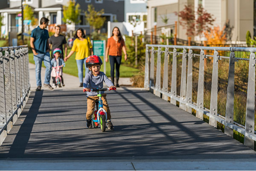
{"type": "MultiPolygon", "coordinates": [[[[22,0],[8,1],[10,2],[10,5],[7,8],[0,10],[1,15],[5,17],[5,25],[3,27],[3,29],[6,30],[5,35],[8,35],[8,32],[10,31],[21,31],[21,18],[19,18],[17,14],[21,13],[22,0]]],[[[69,0],[23,0],[23,2],[33,8],[34,16],[35,18],[38,18],[39,21],[42,17],[46,17],[50,19],[50,24],[64,24],[62,21],[63,6],[67,5],[69,0]]],[[[96,11],[104,9],[103,16],[106,17],[106,23],[103,26],[103,32],[106,32],[107,21],[114,21],[116,19],[124,21],[124,0],[76,0],[76,3],[80,4],[81,23],[78,23],[77,25],[68,25],[68,30],[75,30],[81,27],[87,31],[87,34],[90,33],[90,26],[85,18],[85,11],[87,11],[87,6],[89,4],[92,4],[96,11]]]]}

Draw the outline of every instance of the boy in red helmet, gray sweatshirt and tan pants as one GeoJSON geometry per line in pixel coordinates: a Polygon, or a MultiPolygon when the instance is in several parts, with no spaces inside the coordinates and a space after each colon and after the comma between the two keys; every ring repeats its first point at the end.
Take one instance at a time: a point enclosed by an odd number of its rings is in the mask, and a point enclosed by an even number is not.
{"type": "MultiPolygon", "coordinates": [[[[86,59],[86,67],[91,72],[88,72],[83,81],[83,88],[87,91],[87,112],[86,112],[86,127],[92,128],[92,115],[94,113],[95,101],[99,99],[97,92],[88,92],[93,88],[103,88],[103,82],[109,86],[109,88],[116,88],[104,72],[100,72],[100,66],[102,60],[97,55],[91,55],[86,59]]],[[[113,130],[114,126],[111,122],[111,114],[109,105],[107,104],[106,94],[101,92],[101,100],[103,101],[103,108],[107,112],[107,128],[113,130]]]]}

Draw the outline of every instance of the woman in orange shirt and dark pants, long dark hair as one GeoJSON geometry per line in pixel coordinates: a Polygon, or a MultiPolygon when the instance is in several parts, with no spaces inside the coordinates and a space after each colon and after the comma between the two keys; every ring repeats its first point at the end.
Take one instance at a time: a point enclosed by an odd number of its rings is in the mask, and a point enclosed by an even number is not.
{"type": "Polygon", "coordinates": [[[119,79],[119,69],[121,65],[122,59],[122,50],[124,53],[124,60],[127,60],[126,47],[124,44],[124,40],[122,38],[121,32],[118,27],[114,27],[112,31],[112,36],[107,39],[107,48],[106,48],[106,57],[105,60],[108,62],[107,56],[109,55],[109,62],[111,67],[111,81],[114,83],[114,68],[116,64],[116,87],[119,87],[118,79],[119,79]]]}

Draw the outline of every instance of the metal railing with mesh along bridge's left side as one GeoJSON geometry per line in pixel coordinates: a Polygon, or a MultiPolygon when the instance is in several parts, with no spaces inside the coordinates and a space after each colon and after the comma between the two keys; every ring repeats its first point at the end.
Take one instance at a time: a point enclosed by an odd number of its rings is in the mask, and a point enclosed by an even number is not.
{"type": "Polygon", "coordinates": [[[30,94],[28,46],[0,47],[0,145],[30,94]]]}

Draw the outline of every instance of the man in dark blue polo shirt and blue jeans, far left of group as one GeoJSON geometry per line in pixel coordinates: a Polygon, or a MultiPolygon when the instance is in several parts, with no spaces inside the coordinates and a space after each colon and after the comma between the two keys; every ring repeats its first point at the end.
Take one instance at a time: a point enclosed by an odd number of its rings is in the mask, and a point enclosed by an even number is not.
{"type": "Polygon", "coordinates": [[[41,83],[41,67],[42,61],[45,64],[45,82],[43,86],[52,90],[52,86],[50,85],[51,79],[51,58],[50,58],[50,47],[48,43],[49,33],[45,29],[48,26],[49,20],[45,17],[41,18],[40,25],[37,26],[34,30],[32,30],[30,37],[30,46],[34,54],[34,61],[36,65],[36,91],[40,91],[42,87],[41,83]]]}

